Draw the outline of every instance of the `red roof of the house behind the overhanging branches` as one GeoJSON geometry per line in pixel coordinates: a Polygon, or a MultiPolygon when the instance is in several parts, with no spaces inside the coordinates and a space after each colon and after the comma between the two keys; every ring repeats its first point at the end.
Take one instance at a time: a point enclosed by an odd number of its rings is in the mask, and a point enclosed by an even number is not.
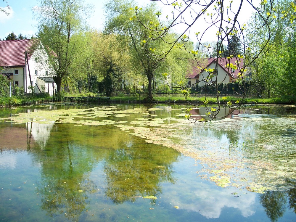
{"type": "Polygon", "coordinates": [[[198,78],[198,75],[202,73],[202,71],[205,70],[205,68],[209,67],[212,63],[217,62],[218,65],[231,77],[237,78],[240,75],[240,69],[244,65],[243,59],[239,58],[226,58],[226,57],[221,57],[221,58],[207,58],[207,59],[202,59],[200,62],[194,61],[194,65],[192,65],[192,71],[188,73],[186,76],[187,78],[198,78]],[[237,66],[237,69],[232,72],[231,68],[229,68],[229,64],[232,63],[233,65],[237,66]]]}

